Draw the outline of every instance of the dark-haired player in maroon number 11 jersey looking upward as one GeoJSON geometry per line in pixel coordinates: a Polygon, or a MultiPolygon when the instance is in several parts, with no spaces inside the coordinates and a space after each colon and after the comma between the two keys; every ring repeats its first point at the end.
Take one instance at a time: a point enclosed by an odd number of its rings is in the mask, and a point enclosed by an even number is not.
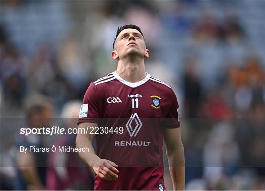
{"type": "Polygon", "coordinates": [[[76,146],[95,171],[95,190],[164,190],[165,141],[174,190],[184,190],[185,162],[178,102],[172,88],[145,72],[149,57],[141,29],[118,28],[115,72],[91,83],[79,113],[76,146]],[[92,147],[95,137],[97,152],[92,147]]]}

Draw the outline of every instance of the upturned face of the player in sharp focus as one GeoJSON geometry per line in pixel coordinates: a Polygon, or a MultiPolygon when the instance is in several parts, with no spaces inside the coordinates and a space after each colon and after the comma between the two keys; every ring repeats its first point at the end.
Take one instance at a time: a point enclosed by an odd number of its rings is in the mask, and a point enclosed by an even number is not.
{"type": "Polygon", "coordinates": [[[127,56],[149,57],[149,50],[146,49],[145,41],[141,33],[132,28],[124,29],[116,38],[113,59],[121,59],[127,56]]]}

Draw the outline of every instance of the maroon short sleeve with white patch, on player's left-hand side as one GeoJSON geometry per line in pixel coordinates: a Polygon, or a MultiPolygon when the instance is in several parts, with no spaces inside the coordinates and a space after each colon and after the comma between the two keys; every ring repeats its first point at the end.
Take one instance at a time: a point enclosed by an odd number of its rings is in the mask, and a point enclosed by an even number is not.
{"type": "Polygon", "coordinates": [[[78,125],[83,122],[99,123],[99,105],[96,86],[91,83],[88,87],[80,108],[78,125]]]}

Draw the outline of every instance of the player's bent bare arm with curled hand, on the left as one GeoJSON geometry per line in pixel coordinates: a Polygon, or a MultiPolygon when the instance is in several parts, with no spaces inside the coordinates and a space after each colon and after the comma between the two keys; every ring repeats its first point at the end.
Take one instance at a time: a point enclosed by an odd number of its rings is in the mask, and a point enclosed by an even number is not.
{"type": "MultiPolygon", "coordinates": [[[[81,123],[78,128],[87,128],[87,127],[97,127],[96,123],[81,123]]],[[[95,134],[87,134],[79,133],[76,138],[76,147],[77,148],[89,148],[89,152],[79,152],[79,156],[82,160],[84,160],[90,167],[93,168],[94,172],[104,180],[116,180],[118,178],[117,173],[119,171],[116,167],[118,167],[112,161],[99,158],[94,151],[92,146],[92,140],[94,139],[95,134]]]]}

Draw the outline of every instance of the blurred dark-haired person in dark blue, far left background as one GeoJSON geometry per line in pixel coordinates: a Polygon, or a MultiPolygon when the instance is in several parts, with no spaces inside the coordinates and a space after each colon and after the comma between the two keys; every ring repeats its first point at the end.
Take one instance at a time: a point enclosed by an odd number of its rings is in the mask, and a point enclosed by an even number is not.
{"type": "MultiPolygon", "coordinates": [[[[27,128],[47,127],[52,118],[53,101],[43,95],[29,97],[25,102],[27,128]]],[[[45,147],[43,134],[19,135],[16,140],[18,167],[15,190],[43,190],[46,185],[47,152],[20,152],[20,147],[45,147]]]]}

